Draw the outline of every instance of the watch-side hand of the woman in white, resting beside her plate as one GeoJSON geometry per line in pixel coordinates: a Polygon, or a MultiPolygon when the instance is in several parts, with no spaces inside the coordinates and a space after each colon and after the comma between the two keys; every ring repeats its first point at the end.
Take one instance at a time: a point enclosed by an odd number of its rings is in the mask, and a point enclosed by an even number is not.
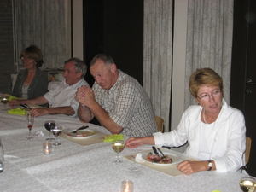
{"type": "Polygon", "coordinates": [[[177,165],[177,169],[186,175],[207,170],[207,161],[184,160],[177,165]]]}

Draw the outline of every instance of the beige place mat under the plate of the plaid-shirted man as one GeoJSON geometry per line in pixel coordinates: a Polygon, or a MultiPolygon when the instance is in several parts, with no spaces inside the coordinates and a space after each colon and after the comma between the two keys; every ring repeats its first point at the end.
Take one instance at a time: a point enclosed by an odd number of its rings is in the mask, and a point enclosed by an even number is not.
{"type": "Polygon", "coordinates": [[[104,138],[108,136],[107,133],[103,133],[101,131],[97,131],[97,133],[94,136],[91,137],[84,137],[84,138],[73,138],[73,137],[68,137],[66,134],[61,133],[61,137],[67,139],[70,142],[77,143],[82,146],[88,146],[96,143],[103,143],[104,138]]]}

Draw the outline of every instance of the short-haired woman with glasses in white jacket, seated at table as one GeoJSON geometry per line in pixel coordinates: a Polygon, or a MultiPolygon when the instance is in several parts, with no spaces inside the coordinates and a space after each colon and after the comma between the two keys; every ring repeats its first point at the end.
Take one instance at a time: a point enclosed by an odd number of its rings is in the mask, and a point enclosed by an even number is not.
{"type": "Polygon", "coordinates": [[[223,99],[222,78],[211,68],[195,71],[189,90],[198,105],[190,106],[171,132],[149,137],[130,137],[127,148],[143,144],[179,147],[188,142],[184,152],[199,161],[185,160],[177,165],[184,174],[201,171],[236,172],[245,165],[246,127],[243,114],[223,99]]]}

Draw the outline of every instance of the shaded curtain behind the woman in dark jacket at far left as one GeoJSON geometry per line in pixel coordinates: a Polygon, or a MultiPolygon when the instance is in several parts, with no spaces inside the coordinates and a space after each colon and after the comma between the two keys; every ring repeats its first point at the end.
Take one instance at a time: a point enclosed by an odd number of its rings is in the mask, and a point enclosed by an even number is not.
{"type": "Polygon", "coordinates": [[[15,26],[17,58],[31,44],[43,52],[43,69],[71,57],[71,0],[15,0],[15,26]]]}

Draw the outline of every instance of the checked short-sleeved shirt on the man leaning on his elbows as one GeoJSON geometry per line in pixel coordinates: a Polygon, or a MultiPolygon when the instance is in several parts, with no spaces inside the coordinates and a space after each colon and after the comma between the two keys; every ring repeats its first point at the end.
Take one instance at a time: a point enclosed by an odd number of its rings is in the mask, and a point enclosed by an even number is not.
{"type": "Polygon", "coordinates": [[[151,136],[157,132],[154,111],[146,91],[136,79],[119,70],[119,78],[110,90],[94,83],[95,99],[114,123],[130,137],[151,136]]]}

